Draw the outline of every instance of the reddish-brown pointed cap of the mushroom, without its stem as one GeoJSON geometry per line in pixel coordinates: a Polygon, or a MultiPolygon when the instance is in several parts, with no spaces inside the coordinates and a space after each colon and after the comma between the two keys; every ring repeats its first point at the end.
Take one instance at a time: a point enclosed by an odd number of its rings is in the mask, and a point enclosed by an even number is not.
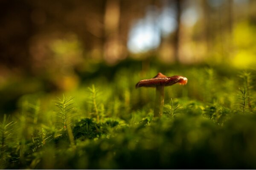
{"type": "Polygon", "coordinates": [[[162,73],[158,73],[154,78],[152,79],[143,79],[140,80],[136,84],[136,88],[140,87],[156,87],[159,85],[167,86],[167,85],[174,85],[176,83],[179,83],[180,85],[186,85],[188,79],[183,76],[172,76],[172,77],[167,77],[163,75],[162,73]]]}

